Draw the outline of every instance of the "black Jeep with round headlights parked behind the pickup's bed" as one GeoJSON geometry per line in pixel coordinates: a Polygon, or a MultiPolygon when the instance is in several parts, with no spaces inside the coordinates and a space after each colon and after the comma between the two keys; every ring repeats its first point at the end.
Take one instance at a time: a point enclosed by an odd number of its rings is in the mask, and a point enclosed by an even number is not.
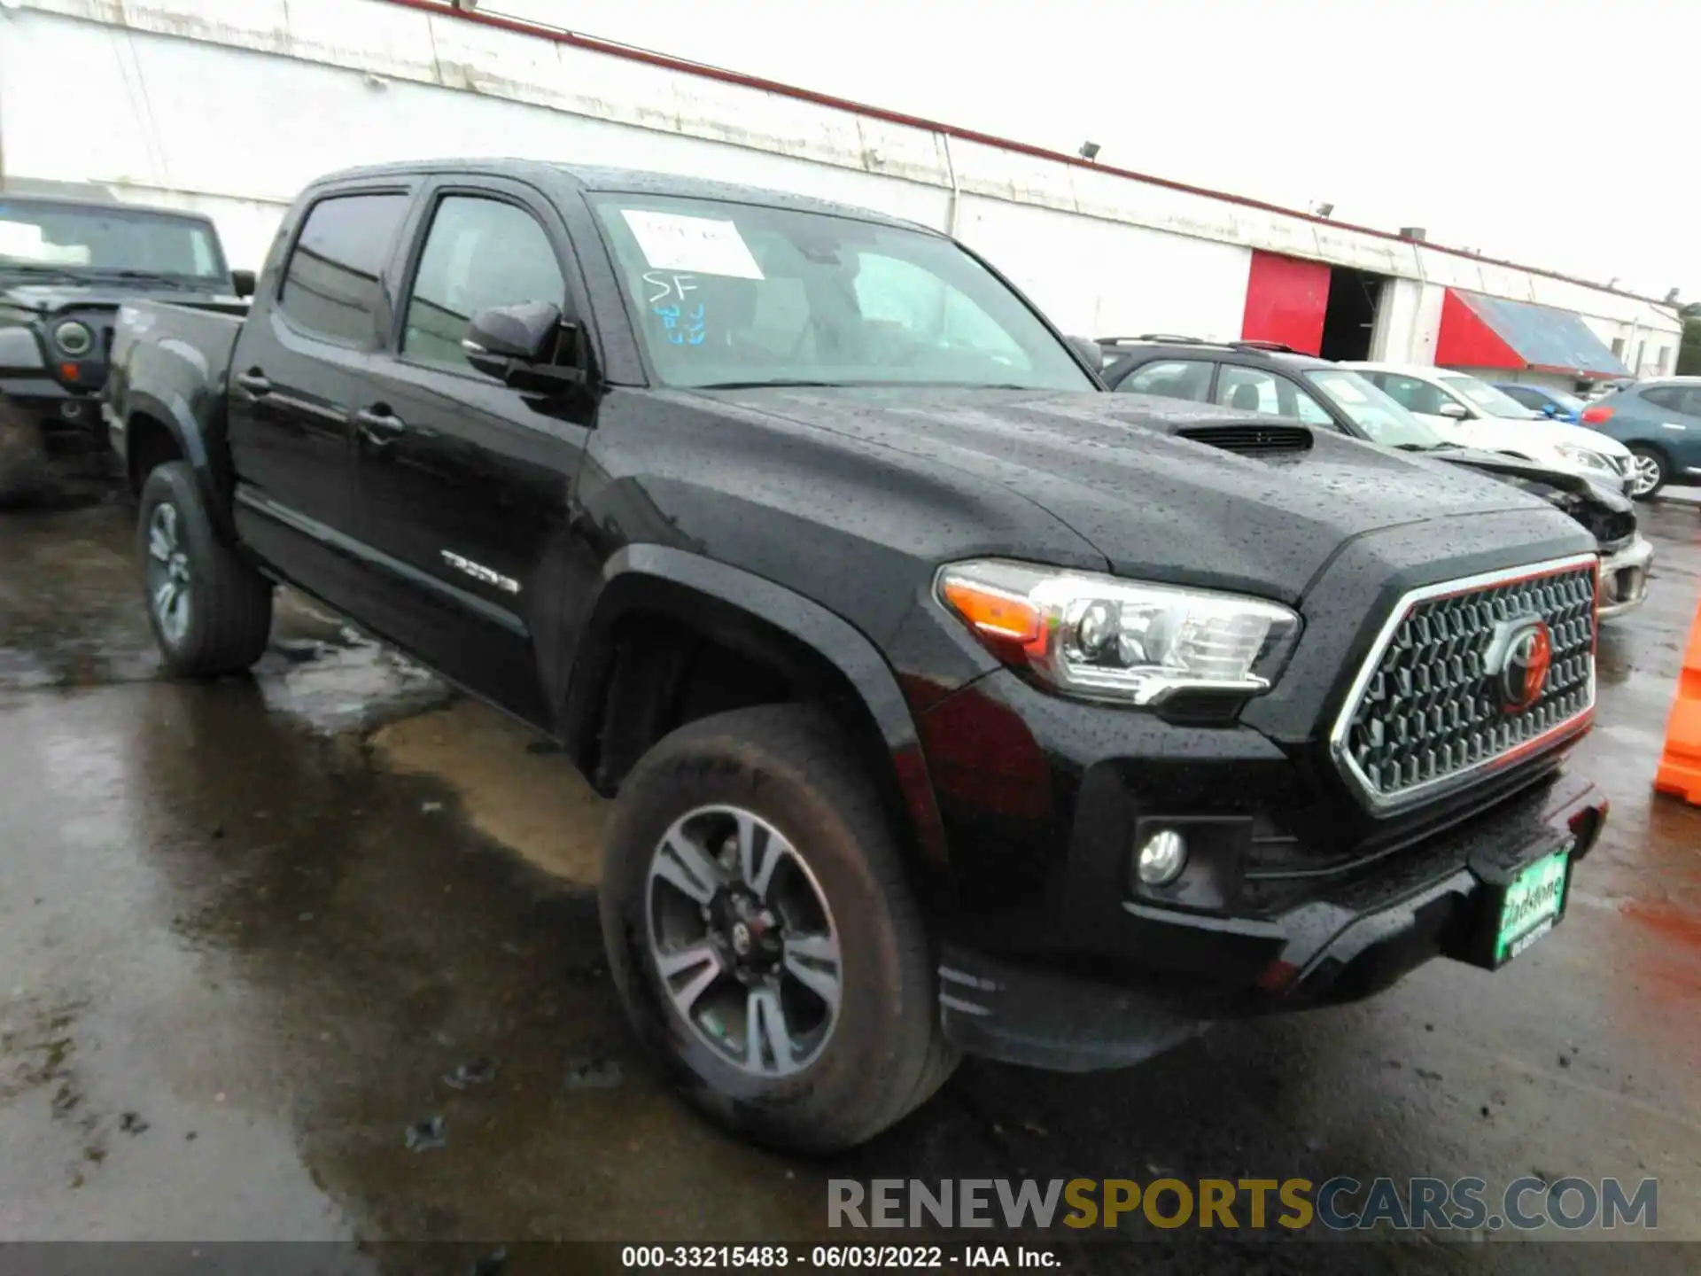
{"type": "Polygon", "coordinates": [[[0,509],[104,468],[119,306],[167,296],[240,313],[252,291],[204,216],[0,191],[0,509]]]}

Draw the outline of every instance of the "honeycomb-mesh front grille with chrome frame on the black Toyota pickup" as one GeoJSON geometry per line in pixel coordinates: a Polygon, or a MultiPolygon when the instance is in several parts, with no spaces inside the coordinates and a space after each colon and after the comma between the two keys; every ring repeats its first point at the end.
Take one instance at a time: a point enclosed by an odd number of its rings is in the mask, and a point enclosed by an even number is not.
{"type": "MultiPolygon", "coordinates": [[[[1337,759],[1374,806],[1415,801],[1510,760],[1594,708],[1596,560],[1499,572],[1414,590],[1383,628],[1334,733],[1337,759]],[[1539,694],[1509,706],[1505,648],[1534,621],[1551,664],[1539,694]]],[[[1521,698],[1521,696],[1519,696],[1521,698]]]]}

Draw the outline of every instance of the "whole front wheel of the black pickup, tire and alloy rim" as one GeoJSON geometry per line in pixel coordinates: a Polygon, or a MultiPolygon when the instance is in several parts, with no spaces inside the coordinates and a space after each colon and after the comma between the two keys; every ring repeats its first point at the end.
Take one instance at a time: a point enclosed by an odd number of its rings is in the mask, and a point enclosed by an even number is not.
{"type": "Polygon", "coordinates": [[[602,934],[640,1036],[759,1143],[854,1147],[956,1062],[886,815],[815,709],[704,718],[640,762],[607,832],[602,934]]]}

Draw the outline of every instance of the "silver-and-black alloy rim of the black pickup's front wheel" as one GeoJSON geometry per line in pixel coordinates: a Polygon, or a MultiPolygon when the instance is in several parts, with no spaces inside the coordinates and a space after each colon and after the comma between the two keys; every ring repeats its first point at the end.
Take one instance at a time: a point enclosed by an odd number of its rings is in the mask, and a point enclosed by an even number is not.
{"type": "Polygon", "coordinates": [[[820,883],[772,823],[742,806],[674,822],[645,886],[650,958],[680,1019],[754,1077],[810,1067],[844,994],[820,883]]]}

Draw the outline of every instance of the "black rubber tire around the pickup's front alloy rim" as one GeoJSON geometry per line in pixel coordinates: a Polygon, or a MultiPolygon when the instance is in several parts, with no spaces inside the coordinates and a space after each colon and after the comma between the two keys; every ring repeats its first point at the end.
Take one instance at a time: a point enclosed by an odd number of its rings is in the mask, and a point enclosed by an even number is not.
{"type": "Polygon", "coordinates": [[[606,835],[602,937],[638,1034],[701,1111],[752,1142],[796,1152],[856,1147],[925,1102],[956,1067],[939,1026],[927,931],[886,813],[818,709],[721,713],[645,755],[606,835]],[[839,1017],[813,1062],[788,1077],[752,1075],[713,1050],[657,970],[646,917],[651,856],[675,820],[720,805],[782,832],[837,924],[839,1017]]]}

